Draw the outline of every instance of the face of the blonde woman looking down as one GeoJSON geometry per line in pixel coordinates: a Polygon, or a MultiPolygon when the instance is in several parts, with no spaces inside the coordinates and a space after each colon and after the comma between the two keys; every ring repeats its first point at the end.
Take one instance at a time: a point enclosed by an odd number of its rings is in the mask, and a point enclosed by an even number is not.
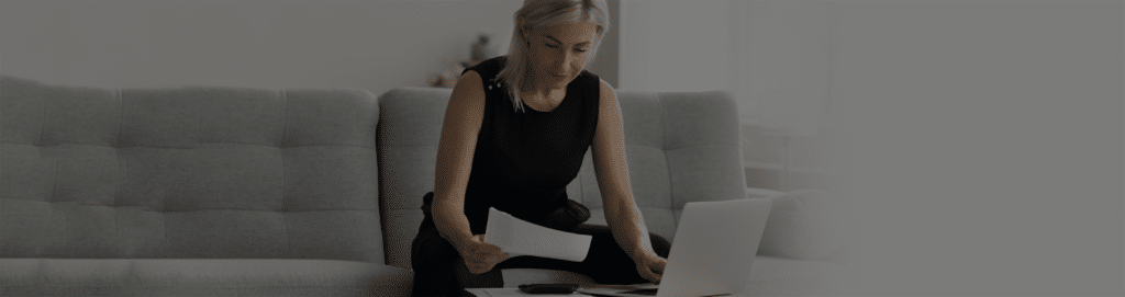
{"type": "Polygon", "coordinates": [[[596,27],[593,22],[556,25],[529,31],[528,50],[534,85],[566,87],[578,77],[593,49],[596,27]]]}

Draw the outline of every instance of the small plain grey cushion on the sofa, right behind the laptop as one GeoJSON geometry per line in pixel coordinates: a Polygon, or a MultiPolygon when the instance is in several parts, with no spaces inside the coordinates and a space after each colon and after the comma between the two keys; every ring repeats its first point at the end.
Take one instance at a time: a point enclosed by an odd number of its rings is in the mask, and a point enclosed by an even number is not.
{"type": "Polygon", "coordinates": [[[839,198],[816,189],[798,189],[774,198],[758,254],[806,260],[842,256],[839,198]]]}

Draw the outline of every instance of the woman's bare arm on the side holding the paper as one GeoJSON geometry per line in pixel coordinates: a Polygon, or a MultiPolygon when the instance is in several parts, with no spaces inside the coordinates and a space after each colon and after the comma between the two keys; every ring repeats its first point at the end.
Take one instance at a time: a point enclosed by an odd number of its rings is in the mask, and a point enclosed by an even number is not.
{"type": "Polygon", "coordinates": [[[438,232],[460,252],[472,238],[465,216],[465,188],[472,169],[472,152],[484,118],[485,92],[480,75],[466,72],[453,86],[438,142],[433,204],[430,206],[438,232]]]}

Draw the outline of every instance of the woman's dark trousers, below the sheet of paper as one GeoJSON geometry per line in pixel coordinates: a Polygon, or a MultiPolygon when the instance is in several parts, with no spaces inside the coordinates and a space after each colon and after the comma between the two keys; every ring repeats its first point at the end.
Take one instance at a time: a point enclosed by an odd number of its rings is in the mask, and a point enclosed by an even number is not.
{"type": "MultiPolygon", "coordinates": [[[[626,285],[648,282],[637,272],[632,258],[618,245],[610,229],[604,225],[578,224],[569,230],[572,233],[592,235],[590,252],[582,262],[572,262],[531,256],[507,259],[496,264],[493,270],[480,275],[468,272],[465,260],[438,233],[433,219],[426,214],[418,228],[418,234],[411,247],[411,267],[414,269],[414,296],[459,296],[464,288],[501,288],[504,287],[501,269],[539,268],[578,272],[605,285],[626,285]]],[[[660,235],[649,233],[652,250],[660,257],[668,258],[672,244],[660,235]]],[[[523,284],[521,284],[523,285],[523,284]]]]}

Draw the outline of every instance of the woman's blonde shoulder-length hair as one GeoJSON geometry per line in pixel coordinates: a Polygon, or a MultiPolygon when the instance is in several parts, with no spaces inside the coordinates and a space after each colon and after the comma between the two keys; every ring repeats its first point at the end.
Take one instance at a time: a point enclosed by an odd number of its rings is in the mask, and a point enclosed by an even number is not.
{"type": "Polygon", "coordinates": [[[521,112],[524,111],[524,108],[523,100],[520,99],[520,86],[523,85],[523,77],[528,72],[528,62],[530,61],[528,40],[523,38],[523,31],[588,20],[596,28],[586,59],[588,63],[596,58],[597,48],[602,45],[602,36],[610,30],[610,12],[605,0],[524,0],[523,7],[515,11],[513,20],[515,29],[512,30],[507,62],[494,80],[504,83],[503,87],[512,99],[512,105],[521,112]],[[524,21],[522,28],[520,27],[521,18],[524,21]]]}

